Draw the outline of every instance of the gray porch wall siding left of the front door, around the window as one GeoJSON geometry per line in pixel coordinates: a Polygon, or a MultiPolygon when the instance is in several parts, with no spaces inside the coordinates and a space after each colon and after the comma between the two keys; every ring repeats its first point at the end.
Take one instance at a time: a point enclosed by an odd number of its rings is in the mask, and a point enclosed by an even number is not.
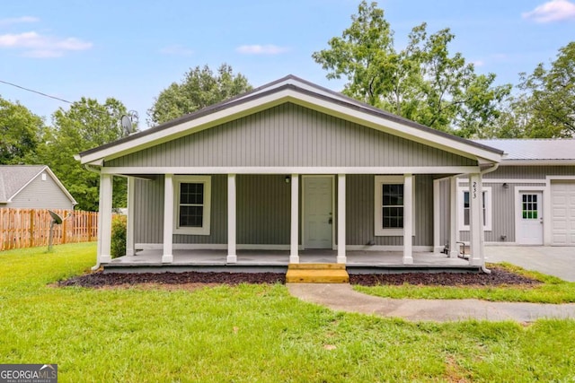
{"type": "MultiPolygon", "coordinates": [[[[174,234],[173,243],[227,243],[227,176],[211,176],[209,235],[174,234]]],[[[289,244],[290,185],[285,176],[236,176],[237,243],[289,244]]],[[[137,243],[162,243],[164,176],[136,181],[137,243]]]]}

